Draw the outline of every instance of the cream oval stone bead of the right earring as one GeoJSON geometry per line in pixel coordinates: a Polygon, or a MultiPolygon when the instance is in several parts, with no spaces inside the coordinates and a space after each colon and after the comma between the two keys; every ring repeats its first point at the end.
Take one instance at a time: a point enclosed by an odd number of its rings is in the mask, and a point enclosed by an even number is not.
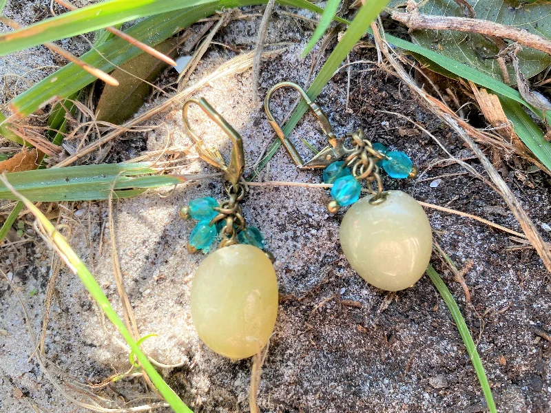
{"type": "Polygon", "coordinates": [[[342,251],[352,268],[373,286],[397,291],[423,275],[433,249],[425,211],[402,191],[387,191],[380,203],[373,196],[350,207],[340,224],[342,251]]]}

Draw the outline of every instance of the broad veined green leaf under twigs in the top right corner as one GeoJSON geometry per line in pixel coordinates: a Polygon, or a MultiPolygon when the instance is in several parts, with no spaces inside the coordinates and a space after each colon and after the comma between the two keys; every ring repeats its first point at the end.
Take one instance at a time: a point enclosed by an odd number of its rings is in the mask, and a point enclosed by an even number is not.
{"type": "MultiPolygon", "coordinates": [[[[403,6],[404,0],[391,0],[391,7],[403,6]]],[[[527,30],[546,39],[551,39],[551,9],[548,2],[523,4],[517,0],[478,0],[470,1],[477,19],[483,19],[527,30]]],[[[464,17],[454,0],[428,0],[419,3],[419,12],[435,16],[464,17]]],[[[412,39],[418,45],[448,56],[459,63],[475,67],[480,72],[503,80],[495,56],[499,47],[495,42],[481,34],[453,32],[449,30],[414,30],[412,39]]],[[[551,63],[551,56],[543,52],[524,47],[518,54],[524,77],[530,78],[551,63]]],[[[511,83],[516,83],[514,71],[509,67],[511,83]]]]}

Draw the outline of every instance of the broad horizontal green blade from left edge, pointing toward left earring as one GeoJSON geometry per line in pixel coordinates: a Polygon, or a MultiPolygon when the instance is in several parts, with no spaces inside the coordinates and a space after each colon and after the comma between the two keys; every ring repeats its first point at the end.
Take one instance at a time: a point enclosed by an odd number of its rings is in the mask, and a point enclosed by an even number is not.
{"type": "MultiPolygon", "coordinates": [[[[148,163],[122,163],[6,173],[6,178],[32,202],[106,200],[112,190],[113,198],[129,198],[148,188],[182,182],[175,176],[152,175],[154,173],[148,163]],[[48,191],[44,191],[45,187],[48,191]]],[[[17,198],[0,184],[0,199],[17,198]]]]}

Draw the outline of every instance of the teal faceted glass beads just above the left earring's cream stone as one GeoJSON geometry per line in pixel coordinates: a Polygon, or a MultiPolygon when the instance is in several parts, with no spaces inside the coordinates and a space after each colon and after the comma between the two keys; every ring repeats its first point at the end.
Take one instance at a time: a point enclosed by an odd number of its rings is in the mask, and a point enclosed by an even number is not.
{"type": "MultiPolygon", "coordinates": [[[[211,197],[198,198],[191,200],[187,206],[189,217],[198,220],[193,231],[189,235],[189,244],[198,250],[208,251],[211,244],[224,228],[225,220],[220,220],[216,224],[210,224],[213,218],[216,218],[218,212],[214,208],[218,207],[218,202],[211,197]]],[[[264,248],[266,242],[264,237],[256,226],[247,226],[244,230],[235,228],[237,231],[237,240],[240,244],[249,244],[257,248],[264,248]]]]}

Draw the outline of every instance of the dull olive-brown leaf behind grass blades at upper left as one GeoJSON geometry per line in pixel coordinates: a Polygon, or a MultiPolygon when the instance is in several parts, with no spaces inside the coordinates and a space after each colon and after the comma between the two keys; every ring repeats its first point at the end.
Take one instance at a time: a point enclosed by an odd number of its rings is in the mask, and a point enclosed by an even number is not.
{"type": "MultiPolygon", "coordinates": [[[[163,41],[155,48],[167,56],[174,57],[180,44],[176,38],[163,41]]],[[[151,85],[169,65],[148,53],[142,53],[115,69],[111,76],[119,85],[105,85],[96,107],[97,120],[121,125],[140,109],[145,98],[151,94],[151,85]],[[146,81],[146,82],[145,82],[146,81]]]]}

